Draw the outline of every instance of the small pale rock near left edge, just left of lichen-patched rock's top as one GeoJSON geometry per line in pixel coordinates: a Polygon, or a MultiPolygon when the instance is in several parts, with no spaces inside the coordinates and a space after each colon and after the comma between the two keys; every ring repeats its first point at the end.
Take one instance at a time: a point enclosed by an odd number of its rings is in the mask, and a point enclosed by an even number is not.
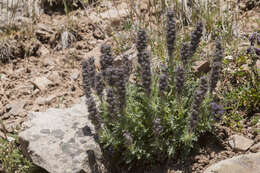
{"type": "Polygon", "coordinates": [[[25,105],[26,105],[25,101],[18,101],[18,102],[7,104],[5,108],[9,115],[18,116],[25,111],[23,109],[25,105]]]}

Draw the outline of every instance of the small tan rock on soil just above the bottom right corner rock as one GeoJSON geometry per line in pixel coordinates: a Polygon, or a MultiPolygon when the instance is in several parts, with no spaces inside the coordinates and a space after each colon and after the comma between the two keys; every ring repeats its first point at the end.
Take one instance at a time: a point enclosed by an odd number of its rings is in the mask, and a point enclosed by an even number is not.
{"type": "Polygon", "coordinates": [[[253,144],[253,140],[240,135],[233,135],[229,140],[230,147],[237,151],[247,151],[253,144]]]}

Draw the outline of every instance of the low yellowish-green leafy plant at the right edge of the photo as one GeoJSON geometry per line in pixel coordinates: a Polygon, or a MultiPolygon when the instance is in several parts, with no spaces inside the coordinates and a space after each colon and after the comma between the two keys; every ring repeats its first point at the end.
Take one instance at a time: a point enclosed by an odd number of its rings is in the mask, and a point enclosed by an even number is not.
{"type": "Polygon", "coordinates": [[[232,69],[225,74],[228,80],[221,93],[226,105],[232,107],[231,115],[252,116],[260,111],[260,73],[256,66],[259,55],[258,49],[253,47],[255,39],[259,39],[260,44],[260,36],[251,38],[251,47],[229,63],[232,69]]]}

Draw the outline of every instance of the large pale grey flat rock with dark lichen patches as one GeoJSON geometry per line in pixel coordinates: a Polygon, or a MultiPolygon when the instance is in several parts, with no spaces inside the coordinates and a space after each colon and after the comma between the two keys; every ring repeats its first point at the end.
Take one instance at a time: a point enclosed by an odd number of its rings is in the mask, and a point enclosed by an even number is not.
{"type": "Polygon", "coordinates": [[[104,172],[84,100],[67,109],[32,112],[24,125],[19,138],[34,164],[50,173],[104,172]]]}

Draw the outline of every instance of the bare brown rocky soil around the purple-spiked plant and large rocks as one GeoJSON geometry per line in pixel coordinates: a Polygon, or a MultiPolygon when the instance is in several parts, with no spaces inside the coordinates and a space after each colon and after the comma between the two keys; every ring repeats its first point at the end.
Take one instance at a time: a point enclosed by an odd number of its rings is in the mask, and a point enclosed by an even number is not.
{"type": "MultiPolygon", "coordinates": [[[[35,25],[14,31],[11,39],[2,35],[2,45],[11,45],[15,55],[7,63],[0,63],[0,116],[8,133],[19,132],[28,112],[67,108],[79,102],[83,96],[82,60],[89,56],[99,58],[104,42],[115,44],[111,36],[120,31],[120,24],[129,17],[126,3],[111,7],[109,3],[100,6],[99,15],[96,8],[76,10],[69,16],[59,12],[43,14],[35,25]]],[[[259,8],[255,8],[244,19],[259,19],[258,12],[259,8]]],[[[244,31],[251,33],[254,25],[257,24],[252,22],[244,31]]],[[[203,147],[186,163],[169,161],[140,172],[202,172],[223,159],[259,152],[260,136],[248,122],[243,123],[242,133],[219,127],[220,139],[210,134],[201,138],[203,147]]],[[[0,138],[4,138],[5,129],[0,129],[0,138]]]]}

